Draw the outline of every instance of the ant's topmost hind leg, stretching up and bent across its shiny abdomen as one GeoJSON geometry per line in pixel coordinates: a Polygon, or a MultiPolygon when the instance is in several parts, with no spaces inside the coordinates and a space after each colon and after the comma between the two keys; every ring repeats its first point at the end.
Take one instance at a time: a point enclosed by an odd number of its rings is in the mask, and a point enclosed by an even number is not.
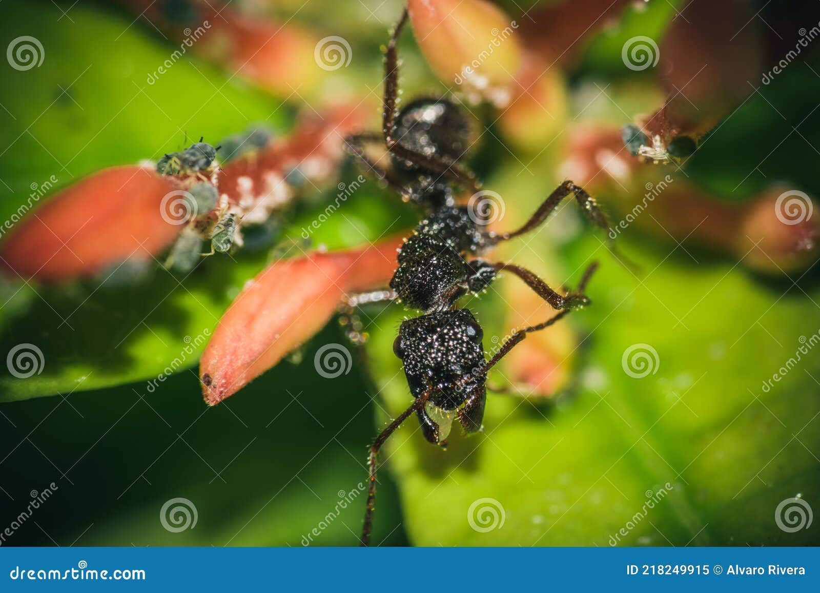
{"type": "Polygon", "coordinates": [[[478,184],[475,176],[469,171],[463,170],[455,162],[446,162],[443,159],[430,158],[424,154],[417,153],[415,150],[406,148],[399,144],[399,140],[395,137],[397,116],[396,101],[399,96],[399,56],[396,52],[396,43],[399,40],[399,35],[407,20],[408,10],[405,8],[401,18],[399,18],[399,23],[395,26],[393,33],[390,34],[390,39],[385,50],[385,95],[384,107],[381,112],[381,131],[382,134],[385,135],[385,145],[389,152],[394,153],[397,157],[415,162],[417,165],[430,169],[430,171],[435,171],[442,176],[457,181],[465,187],[471,188],[474,192],[478,191],[481,185],[478,184]]]}

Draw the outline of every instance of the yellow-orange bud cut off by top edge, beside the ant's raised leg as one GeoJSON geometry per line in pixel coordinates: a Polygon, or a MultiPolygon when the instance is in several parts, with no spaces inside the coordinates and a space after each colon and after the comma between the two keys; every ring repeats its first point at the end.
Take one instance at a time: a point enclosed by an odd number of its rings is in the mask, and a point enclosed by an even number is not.
{"type": "Polygon", "coordinates": [[[516,21],[486,0],[408,0],[408,14],[441,80],[473,101],[508,105],[522,62],[516,21]]]}

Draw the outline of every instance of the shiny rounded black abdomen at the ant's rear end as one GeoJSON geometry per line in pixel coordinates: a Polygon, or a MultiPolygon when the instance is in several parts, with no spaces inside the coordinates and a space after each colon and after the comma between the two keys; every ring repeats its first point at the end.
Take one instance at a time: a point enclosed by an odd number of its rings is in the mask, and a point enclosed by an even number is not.
{"type": "MultiPolygon", "coordinates": [[[[445,161],[458,162],[470,146],[470,136],[470,121],[461,107],[446,98],[418,98],[403,107],[396,120],[399,144],[445,161]]],[[[393,162],[408,173],[440,177],[401,157],[394,157],[393,162]]]]}

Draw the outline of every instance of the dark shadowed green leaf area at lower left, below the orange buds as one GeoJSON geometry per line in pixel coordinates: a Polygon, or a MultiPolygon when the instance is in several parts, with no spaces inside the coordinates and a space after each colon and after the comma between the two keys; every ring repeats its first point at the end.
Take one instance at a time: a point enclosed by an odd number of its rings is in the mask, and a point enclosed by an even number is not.
{"type": "MultiPolygon", "coordinates": [[[[333,379],[313,369],[321,344],[343,340],[329,327],[301,365],[283,363],[213,408],[193,372],[153,392],[123,385],[4,404],[0,495],[13,500],[3,518],[25,510],[30,490],[57,486],[4,545],[355,545],[373,404],[357,368],[333,379]],[[169,531],[161,509],[178,498],[197,523],[169,531]]],[[[386,478],[374,541],[407,545],[386,478]]],[[[180,527],[170,510],[166,522],[180,527]]]]}

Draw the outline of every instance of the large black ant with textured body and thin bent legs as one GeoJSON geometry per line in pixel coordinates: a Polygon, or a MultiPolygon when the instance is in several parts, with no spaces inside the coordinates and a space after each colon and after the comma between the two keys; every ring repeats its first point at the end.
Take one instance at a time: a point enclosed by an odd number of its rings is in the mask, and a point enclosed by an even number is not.
{"type": "MultiPolygon", "coordinates": [[[[415,400],[371,446],[362,545],[370,542],[377,456],[396,428],[416,413],[422,433],[433,444],[446,444],[453,415],[466,432],[479,431],[490,368],[528,333],[551,326],[572,309],[590,304],[583,291],[596,264],[585,271],[576,291],[559,294],[523,267],[489,262],[476,255],[501,241],[534,230],[569,196],[576,198],[596,226],[609,230],[607,218],[594,199],[568,180],[549,195],[520,229],[508,233],[482,230],[485,221],[481,220],[480,213],[468,212],[467,207],[456,204],[454,185],[473,191],[480,188],[476,178],[459,165],[470,138],[467,117],[456,103],[446,98],[419,98],[401,111],[396,109],[399,86],[396,42],[407,18],[405,9],[385,51],[383,137],[366,133],[346,139],[350,152],[375,171],[376,176],[402,194],[405,201],[416,203],[427,212],[399,250],[399,267],[390,281],[390,290],[352,295],[346,301],[348,313],[364,303],[397,299],[424,313],[404,321],[394,341],[394,353],[403,362],[415,400]],[[365,143],[380,141],[385,143],[390,156],[389,170],[371,161],[365,152],[365,143]],[[485,290],[502,270],[520,277],[536,294],[561,311],[539,325],[513,331],[501,349],[485,361],[481,326],[469,310],[455,308],[455,303],[467,292],[477,294],[485,290]]],[[[354,341],[361,341],[358,327],[360,324],[353,322],[353,331],[348,332],[354,341]]]]}

